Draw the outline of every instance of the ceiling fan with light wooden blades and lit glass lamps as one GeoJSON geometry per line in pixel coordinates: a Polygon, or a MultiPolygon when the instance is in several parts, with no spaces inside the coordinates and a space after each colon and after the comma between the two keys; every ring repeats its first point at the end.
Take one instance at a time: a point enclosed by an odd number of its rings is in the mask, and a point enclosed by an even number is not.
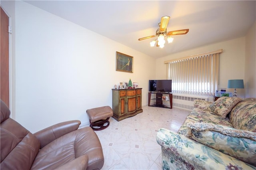
{"type": "Polygon", "coordinates": [[[160,28],[158,28],[156,30],[156,35],[153,36],[147,36],[147,37],[143,37],[143,38],[139,38],[138,40],[146,40],[148,38],[153,38],[153,37],[158,37],[156,40],[153,40],[152,42],[150,42],[150,46],[153,47],[155,45],[155,43],[157,42],[157,47],[159,46],[160,48],[164,47],[164,37],[167,38],[168,43],[173,41],[173,38],[171,36],[176,36],[176,35],[183,35],[183,34],[187,34],[189,29],[184,29],[184,30],[175,30],[175,31],[169,31],[167,32],[167,25],[168,22],[170,20],[170,16],[163,16],[161,18],[161,22],[158,23],[158,26],[160,26],[160,28]]]}

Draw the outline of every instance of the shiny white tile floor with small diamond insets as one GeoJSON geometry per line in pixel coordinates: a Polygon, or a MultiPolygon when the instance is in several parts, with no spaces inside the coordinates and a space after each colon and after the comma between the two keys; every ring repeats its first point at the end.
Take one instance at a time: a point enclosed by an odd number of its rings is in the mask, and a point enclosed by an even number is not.
{"type": "Polygon", "coordinates": [[[161,147],[156,142],[159,128],[174,132],[190,111],[160,107],[142,107],[134,117],[116,121],[110,118],[108,128],[95,131],[102,144],[102,170],[161,170],[161,147]]]}

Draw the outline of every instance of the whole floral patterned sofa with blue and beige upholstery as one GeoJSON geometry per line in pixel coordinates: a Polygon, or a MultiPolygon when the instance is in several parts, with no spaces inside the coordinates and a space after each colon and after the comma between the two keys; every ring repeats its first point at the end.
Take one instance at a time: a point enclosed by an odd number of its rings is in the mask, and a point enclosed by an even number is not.
{"type": "Polygon", "coordinates": [[[161,128],[163,170],[256,169],[256,98],[194,101],[177,133],[161,128]]]}

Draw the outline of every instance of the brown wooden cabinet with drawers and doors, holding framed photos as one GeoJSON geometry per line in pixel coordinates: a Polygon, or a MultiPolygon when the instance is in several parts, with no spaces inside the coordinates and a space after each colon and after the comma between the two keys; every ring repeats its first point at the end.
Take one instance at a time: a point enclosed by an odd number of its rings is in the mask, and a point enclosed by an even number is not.
{"type": "Polygon", "coordinates": [[[142,88],[138,89],[112,89],[113,118],[121,121],[142,113],[142,88]]]}

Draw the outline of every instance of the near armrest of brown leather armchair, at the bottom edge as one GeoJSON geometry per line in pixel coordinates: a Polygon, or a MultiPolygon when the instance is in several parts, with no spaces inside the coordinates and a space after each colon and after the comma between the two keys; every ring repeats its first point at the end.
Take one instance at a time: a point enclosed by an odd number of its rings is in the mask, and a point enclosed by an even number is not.
{"type": "Polygon", "coordinates": [[[82,155],[62,166],[59,166],[55,170],[86,170],[88,166],[88,156],[82,155]]]}

